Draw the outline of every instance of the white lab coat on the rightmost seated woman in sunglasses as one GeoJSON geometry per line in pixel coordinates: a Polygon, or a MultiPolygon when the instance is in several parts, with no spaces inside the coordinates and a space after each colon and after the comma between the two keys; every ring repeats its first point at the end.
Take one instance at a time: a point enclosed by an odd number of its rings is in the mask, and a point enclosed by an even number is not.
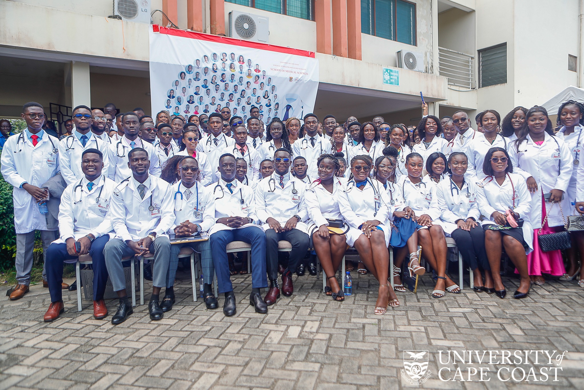
{"type": "Polygon", "coordinates": [[[481,214],[485,216],[485,219],[481,222],[482,226],[496,225],[493,222],[492,213],[498,211],[505,214],[507,209],[515,205],[513,211],[519,214],[519,218],[524,220],[522,228],[523,240],[530,248],[527,253],[533,250],[533,227],[531,227],[529,219],[531,194],[522,175],[507,174],[502,185],[499,185],[494,178],[491,180],[491,177],[487,177],[477,188],[477,202],[481,214]]]}

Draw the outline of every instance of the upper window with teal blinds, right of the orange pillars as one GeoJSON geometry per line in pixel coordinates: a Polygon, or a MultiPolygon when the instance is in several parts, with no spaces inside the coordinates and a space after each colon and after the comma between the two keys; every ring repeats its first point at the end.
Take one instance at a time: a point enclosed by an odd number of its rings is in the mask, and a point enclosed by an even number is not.
{"type": "Polygon", "coordinates": [[[404,0],[361,0],[361,32],[416,45],[416,5],[404,0]]]}

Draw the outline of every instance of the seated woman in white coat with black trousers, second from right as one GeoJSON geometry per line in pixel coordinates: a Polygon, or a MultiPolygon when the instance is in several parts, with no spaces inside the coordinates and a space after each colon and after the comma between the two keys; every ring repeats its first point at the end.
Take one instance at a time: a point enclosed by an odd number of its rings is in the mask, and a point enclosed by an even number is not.
{"type": "Polygon", "coordinates": [[[474,291],[493,294],[495,288],[485,252],[485,233],[478,224],[481,211],[477,204],[477,183],[464,179],[468,167],[466,154],[460,151],[450,154],[448,165],[450,178],[437,185],[430,207],[440,210],[444,233],[456,241],[458,251],[470,266],[474,291]],[[485,274],[485,284],[481,272],[485,274]]]}

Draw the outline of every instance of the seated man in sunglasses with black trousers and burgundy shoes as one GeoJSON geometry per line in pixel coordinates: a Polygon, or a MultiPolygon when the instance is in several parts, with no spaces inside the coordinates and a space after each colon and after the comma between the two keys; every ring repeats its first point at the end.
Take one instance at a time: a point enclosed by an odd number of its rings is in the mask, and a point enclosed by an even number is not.
{"type": "Polygon", "coordinates": [[[270,289],[265,301],[272,305],[280,296],[278,285],[278,241],[292,246],[288,268],[282,274],[282,292],[292,295],[292,274],[308,250],[308,211],[304,202],[306,184],[290,174],[290,151],[284,148],[274,153],[274,173],[262,179],[256,187],[256,210],[266,232],[266,264],[270,289]]]}

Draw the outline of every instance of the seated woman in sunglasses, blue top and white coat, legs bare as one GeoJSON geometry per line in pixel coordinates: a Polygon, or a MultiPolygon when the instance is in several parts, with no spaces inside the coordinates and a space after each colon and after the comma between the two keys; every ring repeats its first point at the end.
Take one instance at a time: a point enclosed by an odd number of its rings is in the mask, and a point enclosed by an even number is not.
{"type": "Polygon", "coordinates": [[[399,306],[395,292],[387,282],[390,254],[391,201],[385,192],[378,192],[369,179],[369,156],[356,156],[351,160],[351,176],[345,189],[339,192],[339,209],[349,224],[347,244],[359,252],[359,257],[379,281],[375,314],[387,311],[387,305],[399,306]],[[389,301],[389,302],[388,302],[389,301]]]}

